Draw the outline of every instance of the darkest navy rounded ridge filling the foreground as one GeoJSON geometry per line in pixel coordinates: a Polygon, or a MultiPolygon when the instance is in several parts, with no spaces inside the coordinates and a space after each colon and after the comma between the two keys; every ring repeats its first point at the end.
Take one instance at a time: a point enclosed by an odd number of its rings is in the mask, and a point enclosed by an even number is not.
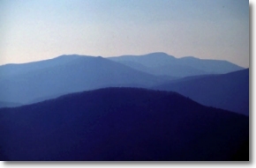
{"type": "Polygon", "coordinates": [[[0,109],[1,160],[249,160],[249,118],[176,92],[84,91],[0,109]]]}

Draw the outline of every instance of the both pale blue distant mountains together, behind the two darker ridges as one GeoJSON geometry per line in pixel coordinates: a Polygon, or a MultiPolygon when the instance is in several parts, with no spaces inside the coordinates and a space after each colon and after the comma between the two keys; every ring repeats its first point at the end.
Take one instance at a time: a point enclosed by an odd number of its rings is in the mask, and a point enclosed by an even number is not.
{"type": "Polygon", "coordinates": [[[242,68],[226,61],[177,59],[164,53],[115,58],[61,55],[40,62],[0,66],[0,107],[27,105],[109,86],[157,88],[187,75],[207,76],[237,69],[242,68]],[[155,73],[155,69],[161,70],[155,73]]]}

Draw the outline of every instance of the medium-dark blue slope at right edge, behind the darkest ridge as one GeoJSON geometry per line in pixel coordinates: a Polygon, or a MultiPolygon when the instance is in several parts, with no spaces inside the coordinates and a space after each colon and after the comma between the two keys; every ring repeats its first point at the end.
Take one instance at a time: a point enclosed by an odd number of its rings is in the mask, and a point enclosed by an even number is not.
{"type": "Polygon", "coordinates": [[[202,105],[249,115],[249,69],[223,75],[187,77],[157,85],[154,89],[177,91],[202,105]]]}

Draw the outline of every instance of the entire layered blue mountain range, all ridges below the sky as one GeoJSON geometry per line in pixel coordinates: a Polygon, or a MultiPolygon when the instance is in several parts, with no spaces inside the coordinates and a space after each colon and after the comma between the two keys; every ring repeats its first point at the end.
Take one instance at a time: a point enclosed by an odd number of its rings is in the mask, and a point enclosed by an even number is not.
{"type": "Polygon", "coordinates": [[[249,74],[165,53],[0,66],[0,160],[249,160],[249,74]]]}

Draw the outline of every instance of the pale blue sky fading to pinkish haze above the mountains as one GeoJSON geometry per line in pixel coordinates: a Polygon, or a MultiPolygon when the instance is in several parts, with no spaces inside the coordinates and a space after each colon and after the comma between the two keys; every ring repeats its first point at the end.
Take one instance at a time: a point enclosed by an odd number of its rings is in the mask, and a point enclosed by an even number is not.
{"type": "Polygon", "coordinates": [[[0,0],[0,65],[165,52],[247,68],[249,21],[248,0],[0,0]]]}

